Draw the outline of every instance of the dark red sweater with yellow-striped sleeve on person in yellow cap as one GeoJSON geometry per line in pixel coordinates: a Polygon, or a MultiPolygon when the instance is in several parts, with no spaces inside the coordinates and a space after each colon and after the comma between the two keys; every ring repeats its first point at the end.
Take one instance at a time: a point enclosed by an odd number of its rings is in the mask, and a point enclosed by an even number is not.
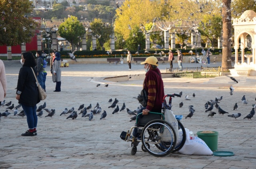
{"type": "Polygon", "coordinates": [[[148,91],[148,104],[146,109],[161,112],[162,99],[164,98],[164,83],[158,68],[149,70],[143,83],[143,88],[148,91]]]}

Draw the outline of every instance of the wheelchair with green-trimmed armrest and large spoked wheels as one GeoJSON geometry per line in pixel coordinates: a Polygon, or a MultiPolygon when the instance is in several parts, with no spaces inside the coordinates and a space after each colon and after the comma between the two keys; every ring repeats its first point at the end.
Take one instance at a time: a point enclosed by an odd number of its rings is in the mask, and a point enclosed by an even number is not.
{"type": "MultiPolygon", "coordinates": [[[[171,109],[172,97],[174,96],[180,97],[180,95],[175,93],[172,95],[165,95],[162,108],[165,107],[171,109]],[[170,97],[169,104],[166,104],[165,97],[170,97]]],[[[142,151],[148,152],[150,155],[156,157],[164,157],[182,148],[186,141],[186,131],[180,122],[180,119],[182,118],[181,116],[176,117],[179,129],[179,137],[177,139],[174,128],[169,122],[165,121],[164,112],[149,112],[149,114],[144,115],[143,118],[138,118],[140,114],[142,113],[139,113],[136,117],[135,126],[132,126],[127,132],[123,131],[120,135],[120,138],[124,141],[132,142],[132,155],[136,154],[139,142],[142,142],[142,151]],[[141,139],[130,137],[134,128],[138,128],[138,133],[141,136],[141,139]]]]}

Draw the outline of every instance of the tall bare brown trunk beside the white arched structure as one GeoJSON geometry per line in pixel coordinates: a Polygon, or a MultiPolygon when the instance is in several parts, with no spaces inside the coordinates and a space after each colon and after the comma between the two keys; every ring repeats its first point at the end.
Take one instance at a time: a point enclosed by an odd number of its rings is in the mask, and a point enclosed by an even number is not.
{"type": "Polygon", "coordinates": [[[222,23],[223,23],[223,47],[222,47],[222,68],[231,68],[231,0],[222,0],[222,23]]]}

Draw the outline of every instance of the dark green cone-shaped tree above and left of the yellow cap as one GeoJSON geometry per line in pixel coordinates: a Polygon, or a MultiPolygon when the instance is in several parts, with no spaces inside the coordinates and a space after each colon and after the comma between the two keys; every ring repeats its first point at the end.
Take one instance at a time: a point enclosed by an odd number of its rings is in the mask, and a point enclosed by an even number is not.
{"type": "Polygon", "coordinates": [[[145,35],[140,31],[138,26],[135,26],[133,30],[130,31],[129,37],[126,40],[125,47],[128,50],[137,50],[138,45],[141,46],[141,49],[146,48],[146,38],[145,35]]]}

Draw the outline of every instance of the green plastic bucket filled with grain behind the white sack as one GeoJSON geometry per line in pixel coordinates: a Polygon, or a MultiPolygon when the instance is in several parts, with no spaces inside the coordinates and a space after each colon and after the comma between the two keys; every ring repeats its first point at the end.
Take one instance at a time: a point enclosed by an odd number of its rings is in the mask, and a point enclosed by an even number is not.
{"type": "Polygon", "coordinates": [[[196,134],[197,136],[204,140],[204,142],[208,145],[208,147],[212,151],[217,151],[218,150],[218,135],[219,133],[217,131],[198,131],[196,134]],[[202,133],[204,132],[204,133],[202,133]],[[213,132],[213,133],[210,133],[213,132]]]}

